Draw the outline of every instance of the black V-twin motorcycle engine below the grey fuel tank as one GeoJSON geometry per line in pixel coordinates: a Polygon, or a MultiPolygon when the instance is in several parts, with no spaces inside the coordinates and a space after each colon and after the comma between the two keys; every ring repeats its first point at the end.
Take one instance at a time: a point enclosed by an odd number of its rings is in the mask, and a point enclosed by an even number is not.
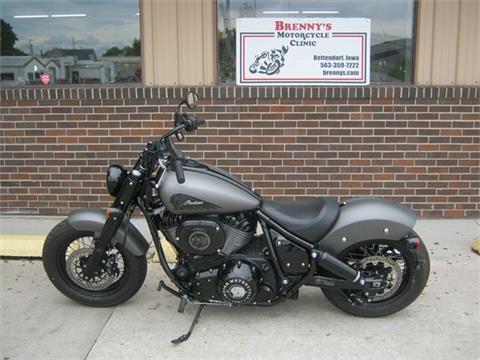
{"type": "Polygon", "coordinates": [[[173,272],[198,300],[244,305],[275,297],[268,248],[248,213],[199,218],[165,212],[162,225],[179,254],[173,272]]]}

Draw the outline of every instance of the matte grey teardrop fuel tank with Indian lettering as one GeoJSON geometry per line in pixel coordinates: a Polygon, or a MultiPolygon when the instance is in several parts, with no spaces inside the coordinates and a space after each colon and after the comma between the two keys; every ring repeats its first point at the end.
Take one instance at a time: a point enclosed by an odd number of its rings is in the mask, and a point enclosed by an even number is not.
{"type": "Polygon", "coordinates": [[[184,168],[184,174],[185,182],[179,184],[175,173],[167,171],[160,184],[160,198],[174,214],[229,214],[260,205],[258,195],[218,173],[184,168]]]}

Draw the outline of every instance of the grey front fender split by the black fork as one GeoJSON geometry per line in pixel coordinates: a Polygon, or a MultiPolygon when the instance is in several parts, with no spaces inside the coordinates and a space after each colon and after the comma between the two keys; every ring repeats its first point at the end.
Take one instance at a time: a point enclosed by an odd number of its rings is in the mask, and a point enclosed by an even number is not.
{"type": "MultiPolygon", "coordinates": [[[[107,218],[102,209],[78,209],[68,216],[68,223],[78,231],[93,231],[99,237],[107,218]]],[[[121,244],[135,256],[143,256],[150,247],[147,240],[130,221],[122,221],[111,240],[112,245],[121,244]]]]}

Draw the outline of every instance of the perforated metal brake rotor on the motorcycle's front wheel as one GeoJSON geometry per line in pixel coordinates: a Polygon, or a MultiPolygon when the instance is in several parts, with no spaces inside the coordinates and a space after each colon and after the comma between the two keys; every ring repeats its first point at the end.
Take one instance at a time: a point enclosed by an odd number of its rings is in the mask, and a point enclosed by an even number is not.
{"type": "Polygon", "coordinates": [[[82,248],[73,251],[67,258],[66,267],[69,278],[82,289],[90,291],[102,291],[112,285],[117,278],[109,275],[105,269],[101,269],[87,279],[84,275],[85,262],[92,254],[92,248],[82,248]]]}

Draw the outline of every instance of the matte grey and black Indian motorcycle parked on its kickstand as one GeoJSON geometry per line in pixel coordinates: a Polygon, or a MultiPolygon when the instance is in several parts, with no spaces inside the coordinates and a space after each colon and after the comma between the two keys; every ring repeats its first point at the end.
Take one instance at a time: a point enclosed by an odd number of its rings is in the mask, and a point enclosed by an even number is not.
{"type": "Polygon", "coordinates": [[[113,204],[79,209],[56,225],[43,248],[51,282],[89,306],[114,306],[134,296],[147,272],[149,243],[130,222],[140,209],[160,265],[180,299],[199,304],[189,338],[206,305],[271,306],[298,298],[302,286],[320,288],[339,309],[364,317],[402,310],[424,289],[427,249],[413,227],[415,214],[381,198],[338,203],[332,197],[276,202],[235,176],[186,157],[184,139],[205,121],[190,91],[174,127],[149,142],[133,169],[111,165],[106,184],[113,204]],[[159,236],[175,250],[167,262],[159,236]]]}

